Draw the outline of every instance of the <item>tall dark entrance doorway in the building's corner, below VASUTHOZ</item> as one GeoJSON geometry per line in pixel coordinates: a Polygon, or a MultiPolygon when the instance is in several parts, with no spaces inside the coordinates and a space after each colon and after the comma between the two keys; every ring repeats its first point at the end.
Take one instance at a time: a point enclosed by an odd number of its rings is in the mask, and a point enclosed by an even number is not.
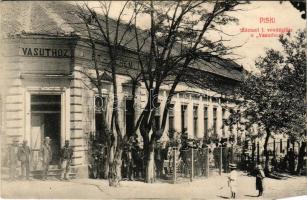
{"type": "Polygon", "coordinates": [[[61,95],[31,95],[31,137],[33,169],[40,168],[40,149],[44,138],[51,139],[52,161],[57,165],[61,148],[61,95]]]}

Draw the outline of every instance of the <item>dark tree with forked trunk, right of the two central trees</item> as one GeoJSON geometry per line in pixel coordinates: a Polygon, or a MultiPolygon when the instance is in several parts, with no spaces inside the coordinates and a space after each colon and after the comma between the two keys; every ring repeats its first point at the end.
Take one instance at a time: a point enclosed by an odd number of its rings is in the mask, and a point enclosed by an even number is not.
{"type": "MultiPolygon", "coordinates": [[[[148,1],[137,2],[142,13],[149,16],[148,29],[149,50],[146,59],[139,59],[143,82],[148,91],[145,109],[140,115],[140,132],[144,142],[145,159],[147,160],[146,181],[152,182],[153,149],[155,142],[160,139],[167,122],[168,108],[177,86],[195,83],[187,78],[191,65],[199,60],[210,60],[213,57],[223,57],[231,54],[236,47],[225,46],[223,37],[212,38],[212,33],[225,34],[222,26],[237,19],[229,12],[236,11],[235,7],[243,2],[229,1],[148,1]],[[211,33],[211,35],[210,35],[211,33]],[[210,37],[211,36],[211,37],[210,37]],[[169,86],[166,105],[162,112],[162,122],[156,126],[155,112],[161,88],[169,86]]],[[[136,27],[136,26],[135,26],[136,27]]],[[[137,46],[140,46],[138,32],[137,46]]],[[[216,34],[217,35],[217,34],[216,34]]],[[[138,48],[139,49],[139,48],[138,48]]],[[[143,52],[137,51],[139,58],[143,52]]],[[[199,85],[199,82],[196,83],[199,85]]]]}

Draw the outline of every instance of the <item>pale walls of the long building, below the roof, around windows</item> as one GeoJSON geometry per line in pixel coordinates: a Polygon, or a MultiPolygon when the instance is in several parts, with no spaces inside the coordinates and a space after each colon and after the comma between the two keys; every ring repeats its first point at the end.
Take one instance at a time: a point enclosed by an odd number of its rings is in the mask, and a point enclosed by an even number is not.
{"type": "MultiPolygon", "coordinates": [[[[97,89],[90,83],[87,75],[94,77],[91,50],[82,41],[72,38],[43,38],[42,36],[16,37],[7,39],[6,51],[2,52],[4,63],[5,88],[3,90],[2,124],[6,143],[17,137],[31,140],[31,94],[61,95],[61,145],[70,140],[74,149],[72,169],[79,177],[88,176],[88,137],[95,132],[95,94],[97,89]],[[29,52],[31,49],[31,52],[29,52]],[[44,52],[42,49],[45,49],[44,52]],[[50,50],[46,50],[50,49],[50,50]],[[53,53],[54,51],[54,53],[53,53]],[[64,52],[66,52],[64,54],[64,52]]],[[[105,70],[108,56],[103,46],[98,46],[101,74],[105,70]]],[[[133,54],[127,53],[121,64],[135,64],[133,54]]],[[[133,66],[132,66],[133,67],[133,66]]],[[[125,130],[125,101],[131,98],[130,78],[118,74],[119,123],[123,133],[125,130]]],[[[113,102],[112,83],[107,80],[103,84],[103,95],[107,99],[107,119],[110,124],[113,102]]],[[[163,108],[169,88],[162,86],[159,94],[160,113],[162,120],[163,108]]],[[[174,128],[181,132],[181,105],[187,105],[187,132],[190,138],[204,136],[204,106],[208,107],[209,129],[213,127],[213,108],[217,108],[217,132],[222,136],[222,105],[221,95],[210,90],[191,88],[179,85],[174,95],[174,128]],[[188,92],[189,91],[189,92],[188,92]],[[214,101],[213,101],[214,99],[214,101]],[[194,134],[193,107],[197,110],[197,134],[194,134]]],[[[148,92],[144,84],[136,91],[136,115],[141,114],[146,105],[148,92]]],[[[227,106],[234,107],[226,102],[227,106]]],[[[137,120],[137,117],[135,120],[137,120]]],[[[167,140],[168,121],[162,140],[167,140]]],[[[138,132],[139,133],[139,132],[138,132]]],[[[209,135],[212,131],[209,131],[209,135]]],[[[141,138],[141,137],[139,137],[141,138]]],[[[141,139],[140,139],[141,140],[141,139]]]]}

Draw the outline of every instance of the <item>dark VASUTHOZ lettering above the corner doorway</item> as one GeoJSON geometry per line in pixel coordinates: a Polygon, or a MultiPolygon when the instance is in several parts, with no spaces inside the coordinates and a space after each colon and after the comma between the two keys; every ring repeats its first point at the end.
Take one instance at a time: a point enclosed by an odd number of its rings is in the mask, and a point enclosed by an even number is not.
{"type": "Polygon", "coordinates": [[[70,49],[22,47],[21,50],[23,56],[70,57],[70,49]]]}

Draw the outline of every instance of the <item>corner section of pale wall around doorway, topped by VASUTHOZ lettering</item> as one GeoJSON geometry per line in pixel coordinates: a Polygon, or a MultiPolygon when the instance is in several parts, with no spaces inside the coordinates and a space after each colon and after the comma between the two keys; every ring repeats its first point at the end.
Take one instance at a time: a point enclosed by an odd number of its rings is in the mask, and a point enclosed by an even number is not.
{"type": "MultiPolygon", "coordinates": [[[[75,105],[78,95],[75,87],[76,81],[71,81],[73,69],[73,40],[36,37],[16,37],[4,39],[2,55],[4,84],[3,93],[3,134],[6,144],[11,144],[13,138],[19,143],[27,140],[32,145],[31,129],[31,95],[57,94],[61,96],[60,116],[60,144],[64,140],[77,138],[83,134],[78,125],[71,124],[73,118],[80,117],[80,110],[75,105]],[[65,53],[64,53],[65,52],[65,53]],[[72,96],[72,97],[71,97],[72,96]],[[72,100],[72,105],[70,101],[72,100]],[[79,112],[79,115],[77,114],[79,112]],[[72,128],[70,128],[72,125],[72,128]],[[75,130],[76,129],[76,130],[75,130]]],[[[74,163],[78,162],[76,156],[74,163]]],[[[82,158],[84,156],[82,155],[82,158]]],[[[84,161],[82,161],[84,165],[84,161]]]]}

